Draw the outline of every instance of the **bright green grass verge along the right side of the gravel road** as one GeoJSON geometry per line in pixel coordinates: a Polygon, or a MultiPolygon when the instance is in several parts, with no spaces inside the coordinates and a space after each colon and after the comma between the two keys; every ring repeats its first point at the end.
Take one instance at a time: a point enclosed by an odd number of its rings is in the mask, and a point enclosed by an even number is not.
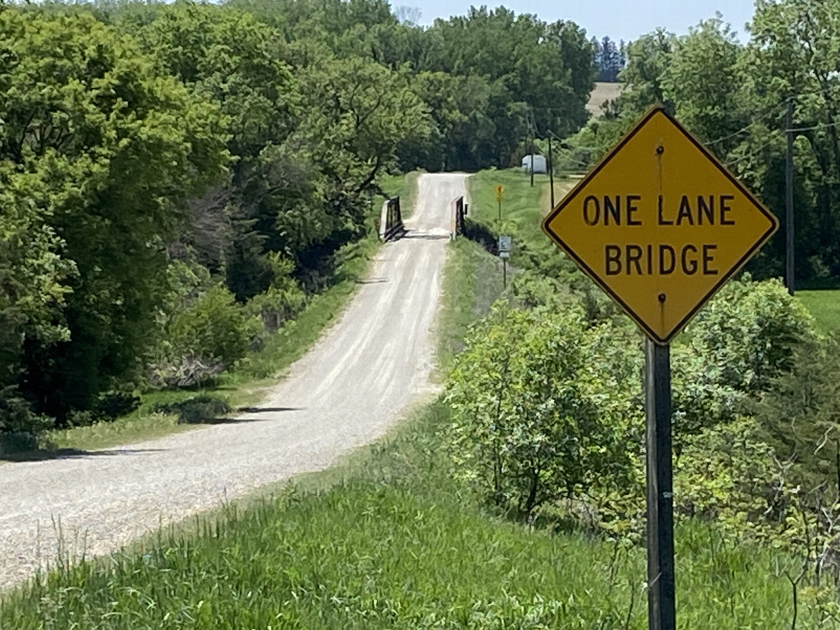
{"type": "MultiPolygon", "coordinates": [[[[450,249],[444,357],[497,294],[492,265],[466,239],[450,249]]],[[[644,549],[483,512],[449,474],[448,422],[432,405],[280,498],[198,522],[199,535],[170,530],[137,553],[65,567],[8,595],[0,627],[646,627],[644,549]]],[[[680,627],[791,626],[790,559],[689,525],[676,561],[680,627]]],[[[797,627],[832,627],[799,596],[797,627]]]]}

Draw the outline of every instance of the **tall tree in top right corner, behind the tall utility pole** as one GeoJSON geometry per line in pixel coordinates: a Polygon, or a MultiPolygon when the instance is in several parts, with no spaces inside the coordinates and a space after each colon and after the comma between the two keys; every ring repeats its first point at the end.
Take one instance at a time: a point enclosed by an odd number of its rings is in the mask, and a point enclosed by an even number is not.
{"type": "MultiPolygon", "coordinates": [[[[769,129],[783,130],[784,101],[792,97],[795,127],[806,129],[796,144],[797,180],[805,184],[796,198],[801,217],[797,255],[811,265],[803,265],[798,273],[811,276],[821,266],[840,273],[840,77],[833,63],[840,50],[840,3],[759,0],[751,30],[744,76],[755,118],[769,129]]],[[[777,138],[781,149],[784,136],[777,133],[777,138]]],[[[767,142],[766,135],[761,139],[767,142]]],[[[783,169],[784,162],[777,159],[773,169],[762,173],[769,202],[784,199],[783,169]]]]}

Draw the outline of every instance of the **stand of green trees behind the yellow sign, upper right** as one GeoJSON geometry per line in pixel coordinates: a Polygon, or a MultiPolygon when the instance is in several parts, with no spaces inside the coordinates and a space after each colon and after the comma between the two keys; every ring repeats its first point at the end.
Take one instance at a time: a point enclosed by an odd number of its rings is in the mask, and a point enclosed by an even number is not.
{"type": "MultiPolygon", "coordinates": [[[[795,254],[801,281],[840,274],[840,3],[756,3],[739,42],[722,18],[686,35],[662,29],[627,45],[622,94],[606,118],[569,140],[567,158],[587,166],[642,113],[664,103],[735,175],[785,217],[785,109],[794,104],[795,254]]],[[[781,222],[784,226],[784,221],[781,222]]],[[[784,227],[750,263],[756,276],[784,272],[784,227]]]]}

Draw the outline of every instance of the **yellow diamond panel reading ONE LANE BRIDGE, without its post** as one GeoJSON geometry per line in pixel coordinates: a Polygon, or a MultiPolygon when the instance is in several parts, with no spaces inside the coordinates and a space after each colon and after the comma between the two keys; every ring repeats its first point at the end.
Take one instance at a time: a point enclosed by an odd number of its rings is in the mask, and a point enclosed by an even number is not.
{"type": "Polygon", "coordinates": [[[778,227],[661,107],[543,221],[546,234],[660,344],[778,227]]]}

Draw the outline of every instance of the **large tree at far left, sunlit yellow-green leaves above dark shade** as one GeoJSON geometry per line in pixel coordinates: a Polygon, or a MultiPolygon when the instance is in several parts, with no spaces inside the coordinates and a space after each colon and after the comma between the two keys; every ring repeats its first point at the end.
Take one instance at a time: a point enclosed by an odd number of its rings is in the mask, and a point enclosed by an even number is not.
{"type": "Polygon", "coordinates": [[[164,244],[186,198],[227,163],[223,119],[88,13],[3,11],[0,41],[0,172],[36,193],[42,243],[76,271],[60,289],[67,334],[24,333],[19,383],[64,417],[139,367],[165,291],[164,244]]]}

